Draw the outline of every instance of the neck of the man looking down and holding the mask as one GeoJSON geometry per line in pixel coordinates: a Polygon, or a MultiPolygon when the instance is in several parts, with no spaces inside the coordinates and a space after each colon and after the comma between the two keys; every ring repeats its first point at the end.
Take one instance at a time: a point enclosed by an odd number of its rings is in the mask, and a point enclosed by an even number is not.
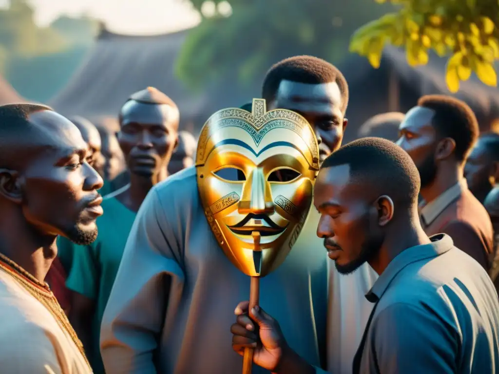
{"type": "Polygon", "coordinates": [[[388,264],[404,250],[430,242],[430,238],[421,227],[417,206],[414,206],[406,219],[393,222],[378,256],[369,261],[369,265],[381,275],[388,264]]]}

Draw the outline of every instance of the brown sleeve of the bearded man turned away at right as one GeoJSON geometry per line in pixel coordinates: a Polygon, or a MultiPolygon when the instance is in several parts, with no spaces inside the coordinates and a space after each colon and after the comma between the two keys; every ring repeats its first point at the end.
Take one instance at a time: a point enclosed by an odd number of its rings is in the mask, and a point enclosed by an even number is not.
{"type": "MultiPolygon", "coordinates": [[[[442,229],[442,232],[452,238],[456,247],[477,260],[484,269],[489,270],[488,248],[473,227],[465,222],[452,221],[442,229]]],[[[492,242],[492,238],[490,240],[492,242]]]]}

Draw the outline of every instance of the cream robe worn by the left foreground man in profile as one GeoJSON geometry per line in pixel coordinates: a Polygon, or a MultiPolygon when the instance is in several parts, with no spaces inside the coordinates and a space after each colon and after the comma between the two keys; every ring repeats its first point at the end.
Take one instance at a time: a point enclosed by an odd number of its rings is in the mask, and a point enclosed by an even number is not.
{"type": "Polygon", "coordinates": [[[90,374],[48,309],[0,269],[0,373],[90,374]]]}

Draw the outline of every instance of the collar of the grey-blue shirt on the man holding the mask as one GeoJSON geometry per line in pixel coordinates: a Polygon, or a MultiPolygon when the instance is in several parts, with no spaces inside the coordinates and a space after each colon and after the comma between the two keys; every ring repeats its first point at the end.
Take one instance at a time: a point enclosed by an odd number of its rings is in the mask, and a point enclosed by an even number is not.
{"type": "Polygon", "coordinates": [[[381,296],[388,289],[392,280],[407,265],[416,261],[440,256],[454,246],[452,238],[446,234],[433,235],[430,239],[432,242],[429,244],[416,245],[399,253],[388,264],[376,282],[374,282],[371,290],[366,294],[366,299],[371,303],[381,299],[381,296]]]}

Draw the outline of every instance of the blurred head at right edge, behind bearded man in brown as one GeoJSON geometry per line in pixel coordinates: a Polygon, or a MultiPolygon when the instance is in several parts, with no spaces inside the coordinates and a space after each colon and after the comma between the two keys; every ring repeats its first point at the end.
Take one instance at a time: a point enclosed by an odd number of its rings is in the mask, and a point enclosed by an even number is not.
{"type": "Polygon", "coordinates": [[[465,166],[470,191],[481,203],[499,182],[499,134],[480,136],[465,166]]]}

